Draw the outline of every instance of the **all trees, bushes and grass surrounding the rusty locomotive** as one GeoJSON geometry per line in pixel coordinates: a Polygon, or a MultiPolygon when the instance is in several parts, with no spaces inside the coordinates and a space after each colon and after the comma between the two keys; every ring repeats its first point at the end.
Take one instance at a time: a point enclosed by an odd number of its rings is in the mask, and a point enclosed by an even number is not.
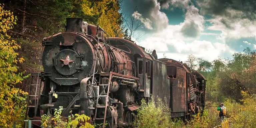
{"type": "MultiPolygon", "coordinates": [[[[63,32],[66,18],[81,17],[88,23],[99,25],[112,37],[131,39],[136,30],[124,30],[121,0],[19,0],[2,3],[6,4],[0,4],[0,126],[4,128],[12,127],[14,120],[24,119],[27,93],[20,90],[22,87],[19,85],[26,83],[23,84],[25,89],[29,84],[24,80],[28,74],[42,71],[41,41],[44,37],[63,32]]],[[[147,52],[151,53],[152,49],[147,52]]],[[[203,115],[196,115],[184,125],[181,120],[169,118],[170,109],[166,100],[157,98],[155,102],[152,98],[149,103],[142,100],[142,108],[135,116],[134,126],[212,128],[220,125],[216,107],[221,102],[228,108],[229,119],[234,127],[256,126],[255,53],[246,48],[244,52],[234,53],[232,59],[219,58],[212,62],[190,55],[186,62],[188,66],[197,69],[207,79],[208,102],[203,115]]],[[[85,115],[73,115],[65,122],[61,120],[61,109],[56,109],[53,118],[44,115],[42,126],[76,127],[80,121],[89,119],[85,115]]],[[[227,125],[224,122],[222,127],[227,125]]],[[[87,123],[85,126],[91,127],[87,123]]]]}

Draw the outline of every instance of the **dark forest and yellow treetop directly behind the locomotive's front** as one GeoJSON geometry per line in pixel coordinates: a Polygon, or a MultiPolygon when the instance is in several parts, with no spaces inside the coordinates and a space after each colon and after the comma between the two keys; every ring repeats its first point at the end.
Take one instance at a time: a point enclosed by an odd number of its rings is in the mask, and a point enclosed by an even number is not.
{"type": "MultiPolygon", "coordinates": [[[[121,0],[0,0],[17,16],[15,29],[6,30],[18,42],[19,56],[25,63],[18,64],[19,72],[25,75],[42,71],[42,40],[58,32],[65,31],[66,18],[83,18],[84,21],[98,25],[111,37],[123,37],[123,17],[120,12],[121,0]],[[57,7],[57,9],[56,9],[57,7]],[[22,42],[22,43],[20,43],[22,42]]],[[[25,79],[23,83],[29,84],[25,79]]],[[[26,84],[19,87],[26,90],[26,84]]],[[[35,90],[34,88],[32,88],[35,90]]]]}

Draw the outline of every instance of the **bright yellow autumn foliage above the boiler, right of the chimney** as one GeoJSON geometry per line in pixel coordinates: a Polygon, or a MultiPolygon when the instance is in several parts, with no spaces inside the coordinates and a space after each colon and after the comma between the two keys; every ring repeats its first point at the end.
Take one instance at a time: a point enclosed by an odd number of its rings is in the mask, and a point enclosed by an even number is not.
{"type": "MultiPolygon", "coordinates": [[[[89,16],[99,16],[97,25],[105,30],[110,37],[123,37],[123,28],[121,27],[122,14],[119,13],[119,1],[115,0],[76,0],[82,6],[84,14],[89,16]],[[111,6],[111,8],[110,8],[111,6]]],[[[72,17],[74,14],[71,14],[72,17]]]]}

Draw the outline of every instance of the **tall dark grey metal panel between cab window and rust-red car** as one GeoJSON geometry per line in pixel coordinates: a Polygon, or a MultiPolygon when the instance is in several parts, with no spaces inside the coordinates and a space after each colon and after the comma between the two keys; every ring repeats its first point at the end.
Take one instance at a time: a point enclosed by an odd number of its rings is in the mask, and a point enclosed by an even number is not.
{"type": "MultiPolygon", "coordinates": [[[[166,97],[168,106],[170,105],[170,79],[167,78],[166,64],[161,61],[153,61],[152,94],[161,99],[166,97]]],[[[155,98],[157,101],[157,98],[155,98]]]]}

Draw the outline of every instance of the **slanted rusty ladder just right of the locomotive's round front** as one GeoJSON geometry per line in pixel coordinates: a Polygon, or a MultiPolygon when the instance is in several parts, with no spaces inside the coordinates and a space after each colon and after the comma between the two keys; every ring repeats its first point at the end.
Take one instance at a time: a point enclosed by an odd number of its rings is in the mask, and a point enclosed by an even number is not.
{"type": "MultiPolygon", "coordinates": [[[[110,86],[111,78],[112,78],[112,74],[110,73],[110,74],[109,74],[109,81],[108,81],[108,84],[99,84],[99,86],[103,86],[103,87],[106,86],[106,87],[108,88],[107,94],[102,95],[102,93],[103,93],[104,91],[99,94],[99,97],[105,97],[105,98],[106,98],[105,106],[100,106],[100,105],[98,105],[98,99],[99,99],[99,98],[97,98],[97,100],[96,100],[96,105],[95,105],[95,115],[94,115],[94,119],[95,119],[95,120],[104,120],[104,121],[103,121],[103,128],[105,128],[105,122],[106,122],[106,114],[107,114],[107,106],[108,106],[108,96],[109,96],[109,86],[110,86]],[[98,109],[98,108],[105,108],[104,118],[96,118],[96,117],[97,117],[97,109],[98,109]]],[[[105,88],[104,88],[104,90],[105,90],[105,88]]]]}

